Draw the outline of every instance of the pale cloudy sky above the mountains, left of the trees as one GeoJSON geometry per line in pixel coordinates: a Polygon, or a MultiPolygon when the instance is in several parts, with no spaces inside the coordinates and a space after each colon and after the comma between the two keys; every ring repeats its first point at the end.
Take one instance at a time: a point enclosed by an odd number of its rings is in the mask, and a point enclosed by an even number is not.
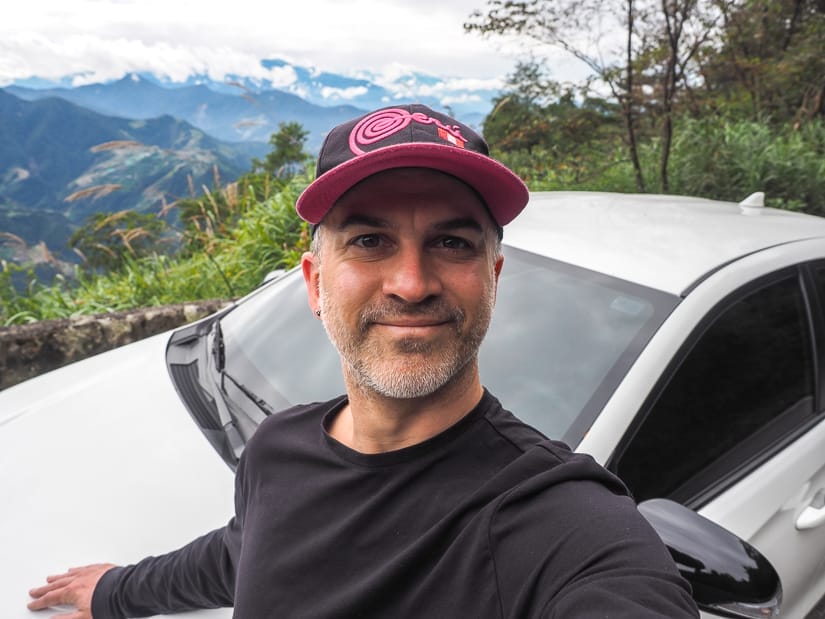
{"type": "MultiPolygon", "coordinates": [[[[263,73],[259,61],[346,75],[415,69],[500,81],[516,53],[465,34],[486,0],[21,0],[0,20],[0,86],[32,76],[76,84],[152,71],[263,73]]],[[[261,75],[261,77],[272,77],[261,75]]]]}

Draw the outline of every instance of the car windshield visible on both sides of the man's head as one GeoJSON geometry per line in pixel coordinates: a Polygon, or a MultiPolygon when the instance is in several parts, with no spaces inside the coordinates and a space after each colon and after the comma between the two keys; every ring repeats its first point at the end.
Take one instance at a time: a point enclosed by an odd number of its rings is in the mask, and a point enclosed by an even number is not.
{"type": "MultiPolygon", "coordinates": [[[[481,379],[504,406],[576,446],[678,299],[505,248],[481,379]]],[[[344,392],[338,355],[309,309],[300,272],[221,321],[226,368],[280,410],[344,392]]]]}

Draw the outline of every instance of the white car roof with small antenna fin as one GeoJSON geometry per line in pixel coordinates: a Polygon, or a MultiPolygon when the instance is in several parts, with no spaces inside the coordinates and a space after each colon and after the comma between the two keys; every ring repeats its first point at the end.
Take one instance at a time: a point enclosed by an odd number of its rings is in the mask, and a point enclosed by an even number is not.
{"type": "Polygon", "coordinates": [[[809,238],[825,238],[825,218],[705,198],[576,191],[531,193],[504,232],[507,245],[677,295],[733,260],[809,238]]]}

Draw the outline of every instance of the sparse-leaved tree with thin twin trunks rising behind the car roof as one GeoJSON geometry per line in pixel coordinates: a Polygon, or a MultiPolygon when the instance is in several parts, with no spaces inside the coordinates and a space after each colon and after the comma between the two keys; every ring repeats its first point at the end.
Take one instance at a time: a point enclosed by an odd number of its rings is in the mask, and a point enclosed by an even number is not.
{"type": "Polygon", "coordinates": [[[721,6],[733,1],[488,0],[485,11],[472,13],[464,27],[559,47],[587,65],[621,109],[639,191],[645,187],[639,117],[657,114],[654,122],[660,126],[662,143],[659,177],[667,191],[678,96],[689,85],[698,51],[720,27],[721,6]]]}

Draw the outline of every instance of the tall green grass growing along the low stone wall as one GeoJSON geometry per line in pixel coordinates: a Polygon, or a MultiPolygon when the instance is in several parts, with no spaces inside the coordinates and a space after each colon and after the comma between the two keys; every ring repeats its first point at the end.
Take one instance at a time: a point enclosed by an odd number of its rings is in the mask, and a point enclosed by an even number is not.
{"type": "Polygon", "coordinates": [[[79,271],[76,281],[58,276],[52,285],[32,275],[23,292],[12,285],[21,269],[4,264],[0,325],[244,295],[270,271],[297,264],[308,249],[308,226],[294,209],[307,182],[296,178],[269,198],[250,202],[226,234],[213,235],[189,256],[127,257],[106,275],[79,271]]]}

